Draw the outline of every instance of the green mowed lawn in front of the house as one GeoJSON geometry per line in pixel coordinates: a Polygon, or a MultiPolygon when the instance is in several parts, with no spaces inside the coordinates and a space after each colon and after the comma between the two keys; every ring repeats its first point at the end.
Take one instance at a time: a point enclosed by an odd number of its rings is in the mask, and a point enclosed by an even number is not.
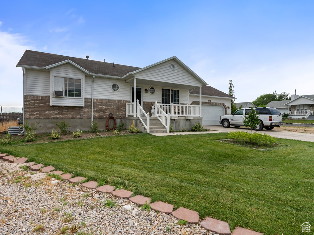
{"type": "Polygon", "coordinates": [[[314,217],[314,143],[279,139],[264,151],[216,141],[227,133],[149,134],[0,146],[264,234],[299,234],[314,217]]]}

